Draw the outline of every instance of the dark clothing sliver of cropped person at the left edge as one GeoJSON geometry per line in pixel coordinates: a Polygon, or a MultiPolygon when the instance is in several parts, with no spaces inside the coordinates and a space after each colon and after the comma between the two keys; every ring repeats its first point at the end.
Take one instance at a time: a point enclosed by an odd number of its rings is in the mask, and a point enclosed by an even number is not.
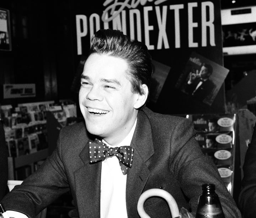
{"type": "Polygon", "coordinates": [[[0,120],[0,201],[8,190],[7,179],[8,179],[8,161],[7,161],[7,147],[5,144],[5,133],[0,120]]]}

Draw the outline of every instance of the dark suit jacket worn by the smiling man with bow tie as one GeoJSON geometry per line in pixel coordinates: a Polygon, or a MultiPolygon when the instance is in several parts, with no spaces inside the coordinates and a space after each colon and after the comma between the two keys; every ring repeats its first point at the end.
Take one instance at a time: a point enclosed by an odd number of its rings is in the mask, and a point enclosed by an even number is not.
{"type": "MultiPolygon", "coordinates": [[[[204,156],[191,121],[186,118],[139,111],[131,145],[132,168],[128,168],[126,202],[128,218],[137,218],[137,203],[145,190],[163,187],[178,207],[196,211],[201,185],[216,185],[225,217],[241,217],[223,184],[217,168],[204,156]]],[[[15,187],[3,203],[33,217],[70,189],[81,218],[100,218],[101,163],[89,163],[89,135],[84,123],[63,128],[52,156],[21,186],[15,187]],[[27,192],[25,194],[25,192],[27,192]]],[[[148,199],[145,211],[151,218],[171,217],[166,202],[148,199]]]]}

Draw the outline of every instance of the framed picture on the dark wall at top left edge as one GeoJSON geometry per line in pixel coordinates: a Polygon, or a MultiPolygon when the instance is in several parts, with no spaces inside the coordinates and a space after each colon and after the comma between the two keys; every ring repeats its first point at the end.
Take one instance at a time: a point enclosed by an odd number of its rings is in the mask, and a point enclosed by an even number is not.
{"type": "Polygon", "coordinates": [[[10,11],[2,8],[0,8],[0,50],[12,50],[10,11]]]}

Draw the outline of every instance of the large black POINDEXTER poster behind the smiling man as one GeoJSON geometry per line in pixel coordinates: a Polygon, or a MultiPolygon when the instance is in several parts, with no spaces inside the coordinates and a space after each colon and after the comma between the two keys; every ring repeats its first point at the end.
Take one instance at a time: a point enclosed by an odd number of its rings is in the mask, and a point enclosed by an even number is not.
{"type": "MultiPolygon", "coordinates": [[[[147,106],[151,110],[168,114],[225,112],[223,83],[217,85],[214,97],[207,103],[175,87],[192,52],[223,66],[219,0],[110,0],[90,4],[75,1],[72,8],[78,68],[82,58],[88,55],[91,37],[97,30],[118,29],[130,39],[145,43],[152,60],[170,69],[161,80],[161,89],[150,96],[147,106]]],[[[154,85],[151,88],[156,90],[154,85]]]]}

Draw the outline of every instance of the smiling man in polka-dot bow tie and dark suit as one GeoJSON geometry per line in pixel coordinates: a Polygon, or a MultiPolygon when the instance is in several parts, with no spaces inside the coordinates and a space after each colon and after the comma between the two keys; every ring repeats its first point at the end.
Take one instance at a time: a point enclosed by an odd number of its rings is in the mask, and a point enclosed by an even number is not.
{"type": "MultiPolygon", "coordinates": [[[[240,217],[214,164],[202,154],[191,121],[144,107],[151,73],[144,44],[118,30],[96,32],[81,75],[85,123],[60,131],[52,156],[5,197],[5,208],[33,217],[70,190],[81,218],[138,218],[140,195],[161,188],[179,208],[195,213],[201,185],[214,183],[225,216],[240,217]],[[110,157],[100,161],[102,156],[110,157]]],[[[171,217],[158,197],[144,208],[151,218],[171,217]]]]}

